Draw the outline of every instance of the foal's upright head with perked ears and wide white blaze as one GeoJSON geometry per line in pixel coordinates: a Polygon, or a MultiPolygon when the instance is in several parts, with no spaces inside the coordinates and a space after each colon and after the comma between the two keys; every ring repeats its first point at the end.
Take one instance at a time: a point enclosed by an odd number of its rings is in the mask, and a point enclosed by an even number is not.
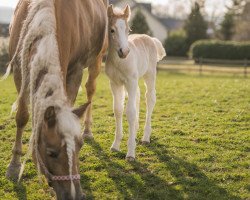
{"type": "Polygon", "coordinates": [[[129,17],[130,7],[128,5],[123,11],[118,8],[113,9],[113,5],[108,7],[109,45],[117,51],[120,58],[126,58],[130,51],[128,45],[129,17]]]}

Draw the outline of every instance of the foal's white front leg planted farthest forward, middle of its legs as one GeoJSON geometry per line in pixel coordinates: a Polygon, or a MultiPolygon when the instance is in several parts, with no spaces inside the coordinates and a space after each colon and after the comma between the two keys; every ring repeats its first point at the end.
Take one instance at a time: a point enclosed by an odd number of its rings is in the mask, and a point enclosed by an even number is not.
{"type": "Polygon", "coordinates": [[[128,161],[135,160],[135,148],[136,148],[136,93],[138,81],[130,81],[126,84],[128,91],[128,104],[126,109],[126,115],[129,124],[129,138],[128,138],[128,152],[126,159],[128,161]]]}

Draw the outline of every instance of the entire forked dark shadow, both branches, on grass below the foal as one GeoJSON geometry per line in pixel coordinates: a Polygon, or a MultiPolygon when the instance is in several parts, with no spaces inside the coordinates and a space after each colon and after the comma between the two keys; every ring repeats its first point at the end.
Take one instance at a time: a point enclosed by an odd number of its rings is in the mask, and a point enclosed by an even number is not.
{"type": "MultiPolygon", "coordinates": [[[[95,141],[88,142],[96,156],[108,172],[108,177],[115,183],[120,196],[117,199],[230,199],[238,200],[225,189],[210,180],[199,168],[192,163],[171,155],[164,145],[153,143],[147,146],[163,163],[172,177],[176,180],[169,183],[150,171],[149,164],[138,161],[131,162],[132,169],[111,160],[95,141]]],[[[117,153],[115,157],[125,158],[125,154],[117,153]]],[[[83,183],[84,185],[86,183],[83,183]]],[[[86,187],[85,187],[86,188],[86,187]]],[[[90,188],[89,188],[90,189],[90,188]]],[[[88,196],[87,199],[93,199],[88,196]]]]}

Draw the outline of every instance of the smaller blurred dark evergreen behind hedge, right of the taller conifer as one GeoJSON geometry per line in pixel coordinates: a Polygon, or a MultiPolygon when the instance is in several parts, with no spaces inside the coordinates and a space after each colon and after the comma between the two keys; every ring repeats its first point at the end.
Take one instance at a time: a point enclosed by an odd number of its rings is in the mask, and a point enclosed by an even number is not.
{"type": "Polygon", "coordinates": [[[234,35],[234,14],[231,11],[228,11],[225,16],[224,20],[221,23],[221,34],[224,40],[231,40],[234,35]]]}

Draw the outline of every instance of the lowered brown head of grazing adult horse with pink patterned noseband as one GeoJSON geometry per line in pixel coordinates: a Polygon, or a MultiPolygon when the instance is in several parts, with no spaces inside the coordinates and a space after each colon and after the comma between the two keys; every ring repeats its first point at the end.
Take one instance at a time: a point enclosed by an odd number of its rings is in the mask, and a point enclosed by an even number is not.
{"type": "Polygon", "coordinates": [[[79,118],[88,105],[75,110],[67,106],[47,107],[33,145],[33,159],[55,190],[57,199],[84,199],[78,165],[83,144],[79,118]]]}

